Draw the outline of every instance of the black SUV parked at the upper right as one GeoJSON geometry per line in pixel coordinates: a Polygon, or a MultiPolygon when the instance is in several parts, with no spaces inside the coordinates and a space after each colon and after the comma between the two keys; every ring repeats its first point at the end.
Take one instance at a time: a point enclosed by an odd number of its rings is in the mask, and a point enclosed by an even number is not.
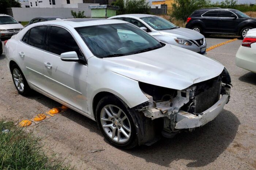
{"type": "Polygon", "coordinates": [[[256,28],[256,18],[234,9],[202,8],[189,16],[186,28],[202,34],[236,34],[244,38],[248,30],[256,28]]]}

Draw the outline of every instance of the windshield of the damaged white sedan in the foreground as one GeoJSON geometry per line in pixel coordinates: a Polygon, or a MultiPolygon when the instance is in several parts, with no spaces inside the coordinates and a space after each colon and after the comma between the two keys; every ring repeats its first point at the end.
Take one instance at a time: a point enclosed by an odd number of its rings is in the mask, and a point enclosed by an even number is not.
{"type": "Polygon", "coordinates": [[[99,58],[126,56],[161,48],[163,45],[129,23],[77,27],[83,41],[99,58]]]}

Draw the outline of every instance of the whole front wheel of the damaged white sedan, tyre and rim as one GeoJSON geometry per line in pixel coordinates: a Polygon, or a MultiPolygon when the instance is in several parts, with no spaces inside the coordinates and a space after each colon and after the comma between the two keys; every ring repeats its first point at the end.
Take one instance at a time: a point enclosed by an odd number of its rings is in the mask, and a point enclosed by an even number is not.
{"type": "Polygon", "coordinates": [[[96,108],[99,129],[108,141],[122,149],[138,145],[132,110],[114,96],[102,98],[96,108]]]}

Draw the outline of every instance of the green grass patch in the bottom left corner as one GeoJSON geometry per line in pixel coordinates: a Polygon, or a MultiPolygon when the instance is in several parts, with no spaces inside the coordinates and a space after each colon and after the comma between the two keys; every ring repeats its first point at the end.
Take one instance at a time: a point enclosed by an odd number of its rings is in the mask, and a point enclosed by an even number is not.
{"type": "Polygon", "coordinates": [[[71,170],[63,161],[47,156],[40,139],[25,133],[13,122],[0,121],[0,169],[1,170],[71,170]],[[3,133],[4,129],[9,129],[3,133]]]}

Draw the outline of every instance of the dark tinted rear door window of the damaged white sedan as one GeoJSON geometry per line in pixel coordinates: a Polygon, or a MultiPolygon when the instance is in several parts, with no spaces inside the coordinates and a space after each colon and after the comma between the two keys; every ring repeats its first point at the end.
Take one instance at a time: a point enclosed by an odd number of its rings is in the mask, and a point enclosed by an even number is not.
{"type": "Polygon", "coordinates": [[[34,27],[30,30],[28,44],[45,50],[44,40],[47,26],[34,27]]]}

